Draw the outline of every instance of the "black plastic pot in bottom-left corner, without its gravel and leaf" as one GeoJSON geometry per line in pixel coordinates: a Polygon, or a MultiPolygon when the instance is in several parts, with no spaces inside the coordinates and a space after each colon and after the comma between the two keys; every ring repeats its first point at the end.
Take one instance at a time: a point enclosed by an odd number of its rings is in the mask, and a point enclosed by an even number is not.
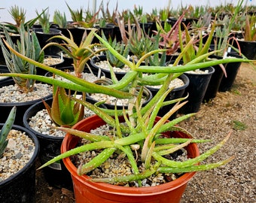
{"type": "MultiPolygon", "coordinates": [[[[1,129],[4,124],[0,123],[1,129]]],[[[35,202],[35,161],[39,153],[38,138],[21,126],[14,125],[12,129],[26,132],[35,144],[35,151],[29,162],[13,176],[0,181],[1,203],[33,203],[35,202]]]]}

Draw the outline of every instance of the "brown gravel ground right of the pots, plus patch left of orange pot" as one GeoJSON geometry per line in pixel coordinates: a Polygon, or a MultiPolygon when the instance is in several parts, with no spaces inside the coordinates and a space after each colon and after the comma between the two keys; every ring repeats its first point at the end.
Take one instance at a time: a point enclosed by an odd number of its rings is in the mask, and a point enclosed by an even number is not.
{"type": "MultiPolygon", "coordinates": [[[[209,162],[235,156],[232,162],[211,171],[198,172],[187,184],[185,202],[256,202],[255,134],[256,70],[242,64],[230,92],[218,92],[216,98],[203,104],[198,114],[180,125],[195,138],[212,138],[212,145],[228,132],[230,140],[209,162]]],[[[200,150],[206,150],[200,145],[200,150]]],[[[211,147],[211,146],[209,146],[211,147]]],[[[72,191],[49,186],[37,171],[37,202],[75,202],[72,191]]],[[[170,201],[171,202],[171,201],[170,201]]]]}

